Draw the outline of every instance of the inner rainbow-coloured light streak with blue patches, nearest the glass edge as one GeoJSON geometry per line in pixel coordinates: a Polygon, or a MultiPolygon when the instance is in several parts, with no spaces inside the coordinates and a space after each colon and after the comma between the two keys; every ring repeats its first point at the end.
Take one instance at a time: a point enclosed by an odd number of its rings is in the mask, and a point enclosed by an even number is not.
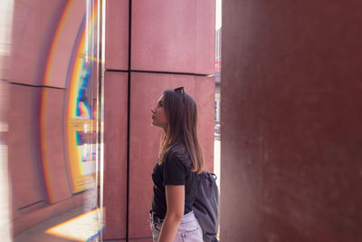
{"type": "MultiPolygon", "coordinates": [[[[74,127],[75,123],[82,123],[76,120],[84,120],[86,122],[88,121],[88,123],[84,123],[84,131],[88,132],[91,135],[92,131],[96,130],[97,117],[94,116],[94,113],[96,113],[96,109],[92,111],[90,108],[90,103],[86,102],[84,98],[86,97],[85,92],[89,88],[89,84],[92,81],[91,77],[94,68],[94,57],[87,54],[88,50],[86,50],[86,46],[88,45],[87,42],[93,43],[91,41],[91,38],[94,36],[94,27],[92,26],[96,25],[96,16],[98,13],[97,7],[98,5],[96,4],[91,9],[88,23],[90,28],[88,29],[88,31],[85,28],[85,25],[87,25],[87,23],[86,21],[83,21],[81,42],[78,45],[77,50],[75,51],[76,58],[74,59],[75,62],[72,65],[73,69],[71,72],[70,96],[66,118],[66,120],[68,121],[68,124],[66,125],[66,140],[68,141],[68,150],[70,151],[71,156],[76,157],[73,158],[73,160],[79,161],[87,161],[87,159],[84,160],[84,157],[87,157],[84,154],[84,149],[89,149],[89,151],[87,152],[93,152],[93,150],[91,149],[91,146],[85,145],[83,148],[76,146],[74,129],[72,129],[71,127],[74,127]],[[88,40],[87,38],[90,38],[90,40],[88,40]]],[[[90,97],[88,97],[88,99],[89,98],[90,97]]],[[[90,157],[92,157],[92,155],[90,155],[90,157]]],[[[88,189],[86,185],[87,178],[84,175],[89,174],[89,172],[85,170],[84,166],[85,164],[81,165],[81,162],[71,163],[71,178],[74,191],[88,189]]],[[[91,180],[92,179],[90,179],[90,181],[91,180]]]]}

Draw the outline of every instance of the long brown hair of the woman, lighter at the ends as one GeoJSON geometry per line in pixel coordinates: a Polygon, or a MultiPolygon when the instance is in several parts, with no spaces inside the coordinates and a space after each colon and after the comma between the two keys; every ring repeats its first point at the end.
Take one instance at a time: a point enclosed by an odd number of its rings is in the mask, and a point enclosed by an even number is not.
{"type": "Polygon", "coordinates": [[[204,169],[204,159],[197,137],[196,102],[183,88],[166,90],[163,94],[168,127],[167,133],[162,132],[158,164],[166,160],[167,151],[181,139],[191,158],[191,170],[200,173],[204,169]]]}

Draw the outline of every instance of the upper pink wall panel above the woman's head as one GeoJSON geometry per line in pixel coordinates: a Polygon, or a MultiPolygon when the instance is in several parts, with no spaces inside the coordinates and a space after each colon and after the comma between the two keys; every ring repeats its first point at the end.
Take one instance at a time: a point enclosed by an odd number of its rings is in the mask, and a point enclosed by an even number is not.
{"type": "Polygon", "coordinates": [[[132,1],[131,69],[214,73],[214,1],[132,1]]]}

